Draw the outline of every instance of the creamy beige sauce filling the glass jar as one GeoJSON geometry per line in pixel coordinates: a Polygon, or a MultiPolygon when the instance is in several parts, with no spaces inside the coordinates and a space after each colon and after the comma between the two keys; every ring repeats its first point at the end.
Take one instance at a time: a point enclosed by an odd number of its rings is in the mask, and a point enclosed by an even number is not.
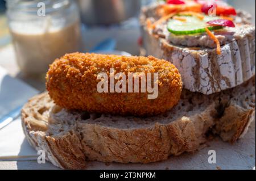
{"type": "Polygon", "coordinates": [[[79,21],[63,28],[49,28],[49,30],[35,30],[13,28],[16,60],[20,70],[24,73],[46,73],[49,64],[65,53],[76,52],[80,48],[79,21]],[[15,30],[15,31],[14,31],[15,30]]]}

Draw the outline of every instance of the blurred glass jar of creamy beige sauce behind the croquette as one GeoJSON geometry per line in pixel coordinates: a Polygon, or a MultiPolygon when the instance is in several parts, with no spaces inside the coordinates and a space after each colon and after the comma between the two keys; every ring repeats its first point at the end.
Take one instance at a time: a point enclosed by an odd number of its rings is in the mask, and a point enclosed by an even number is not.
{"type": "Polygon", "coordinates": [[[80,50],[79,9],[72,0],[7,0],[7,17],[22,73],[45,74],[56,58],[80,50]]]}

